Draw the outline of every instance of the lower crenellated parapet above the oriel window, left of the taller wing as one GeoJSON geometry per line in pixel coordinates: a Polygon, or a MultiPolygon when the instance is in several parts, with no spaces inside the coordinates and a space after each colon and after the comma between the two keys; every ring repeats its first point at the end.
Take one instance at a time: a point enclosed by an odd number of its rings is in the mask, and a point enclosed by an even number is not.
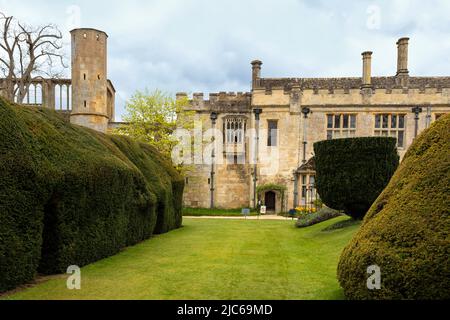
{"type": "Polygon", "coordinates": [[[190,97],[187,93],[178,93],[177,99],[188,98],[190,105],[186,110],[197,112],[219,113],[247,113],[251,112],[252,95],[249,92],[220,92],[209,94],[205,99],[204,93],[194,93],[190,97]]]}

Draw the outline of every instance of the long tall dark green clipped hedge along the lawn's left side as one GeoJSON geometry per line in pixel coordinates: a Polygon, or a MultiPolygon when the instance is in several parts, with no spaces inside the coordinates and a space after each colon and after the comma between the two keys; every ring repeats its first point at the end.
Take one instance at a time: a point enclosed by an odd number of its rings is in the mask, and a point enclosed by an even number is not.
{"type": "Polygon", "coordinates": [[[181,225],[183,179],[150,146],[0,99],[0,155],[0,292],[181,225]]]}

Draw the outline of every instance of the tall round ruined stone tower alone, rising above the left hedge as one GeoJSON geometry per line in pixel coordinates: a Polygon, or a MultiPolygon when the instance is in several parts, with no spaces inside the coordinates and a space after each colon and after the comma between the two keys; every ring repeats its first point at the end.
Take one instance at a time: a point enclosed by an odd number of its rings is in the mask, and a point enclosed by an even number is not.
{"type": "Polygon", "coordinates": [[[112,116],[108,101],[107,39],[95,29],[72,35],[72,113],[70,122],[106,132],[112,116]]]}

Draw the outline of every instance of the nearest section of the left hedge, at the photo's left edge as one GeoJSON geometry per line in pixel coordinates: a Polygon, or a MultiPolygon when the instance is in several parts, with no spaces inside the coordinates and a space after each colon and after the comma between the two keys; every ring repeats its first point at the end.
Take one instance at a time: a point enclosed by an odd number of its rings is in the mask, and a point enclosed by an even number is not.
{"type": "Polygon", "coordinates": [[[26,131],[0,98],[0,292],[33,279],[41,254],[41,198],[49,191],[37,183],[26,131]]]}

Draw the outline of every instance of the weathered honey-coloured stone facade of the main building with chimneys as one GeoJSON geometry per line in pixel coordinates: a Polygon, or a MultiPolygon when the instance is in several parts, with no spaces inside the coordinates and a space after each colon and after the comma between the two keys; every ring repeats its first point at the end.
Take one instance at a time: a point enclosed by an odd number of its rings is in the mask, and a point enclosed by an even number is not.
{"type": "MultiPolygon", "coordinates": [[[[450,112],[450,77],[411,77],[408,44],[408,38],[397,43],[398,69],[391,77],[372,77],[372,52],[363,53],[363,75],[355,78],[262,78],[262,62],[254,61],[251,93],[211,94],[209,100],[194,94],[187,109],[196,112],[204,131],[217,113],[216,128],[223,131],[223,139],[216,136],[214,145],[222,152],[216,152],[213,164],[196,161],[186,181],[185,205],[253,207],[255,162],[257,186],[287,188],[284,197],[277,193],[270,209],[280,212],[311,202],[315,176],[308,160],[313,144],[321,140],[394,136],[403,157],[416,133],[450,112]],[[415,107],[421,112],[414,112],[415,107]],[[259,126],[255,109],[262,110],[259,126]],[[257,127],[258,160],[252,161],[257,127]]],[[[209,146],[203,147],[207,154],[209,146]]],[[[263,195],[261,200],[267,199],[263,195]]]]}

